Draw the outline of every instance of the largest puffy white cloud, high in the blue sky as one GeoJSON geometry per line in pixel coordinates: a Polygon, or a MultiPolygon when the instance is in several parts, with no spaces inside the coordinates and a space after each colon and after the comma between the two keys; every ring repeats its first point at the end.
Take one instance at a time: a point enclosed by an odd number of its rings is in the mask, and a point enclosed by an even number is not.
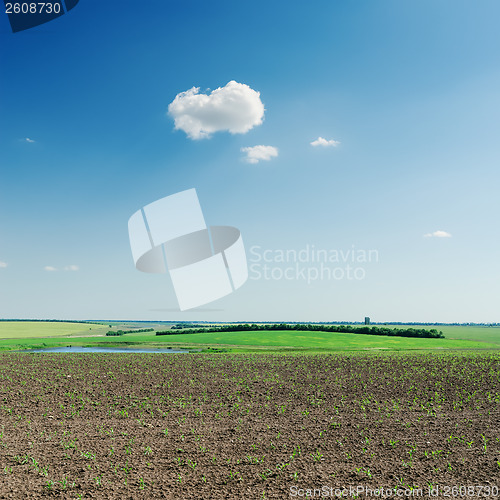
{"type": "Polygon", "coordinates": [[[191,139],[208,138],[222,130],[244,134],[262,123],[264,104],[260,92],[248,85],[232,80],[210,94],[199,91],[199,87],[193,87],[181,92],[168,106],[175,128],[191,139]]]}

